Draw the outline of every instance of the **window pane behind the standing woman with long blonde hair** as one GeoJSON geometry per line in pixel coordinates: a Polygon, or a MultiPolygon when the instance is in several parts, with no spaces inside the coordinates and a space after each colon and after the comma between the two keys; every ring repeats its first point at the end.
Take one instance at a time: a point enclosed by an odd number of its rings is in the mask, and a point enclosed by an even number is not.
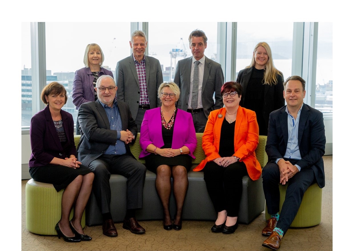
{"type": "Polygon", "coordinates": [[[267,42],[275,67],[284,78],[291,76],[293,23],[237,23],[236,75],[251,63],[259,42],[267,42]]]}

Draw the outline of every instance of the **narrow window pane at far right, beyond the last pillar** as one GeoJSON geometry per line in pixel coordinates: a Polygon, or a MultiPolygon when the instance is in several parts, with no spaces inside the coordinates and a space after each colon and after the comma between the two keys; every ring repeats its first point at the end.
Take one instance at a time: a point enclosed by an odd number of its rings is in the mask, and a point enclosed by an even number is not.
{"type": "Polygon", "coordinates": [[[315,108],[333,112],[332,23],[318,23],[315,108]]]}

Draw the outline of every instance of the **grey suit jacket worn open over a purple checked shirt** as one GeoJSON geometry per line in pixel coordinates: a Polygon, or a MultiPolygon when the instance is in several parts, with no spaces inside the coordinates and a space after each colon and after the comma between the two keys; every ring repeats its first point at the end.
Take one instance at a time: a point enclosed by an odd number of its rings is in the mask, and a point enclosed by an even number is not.
{"type": "MultiPolygon", "coordinates": [[[[146,85],[150,108],[158,107],[157,91],[164,79],[158,59],[145,55],[146,85]]],[[[118,86],[117,99],[129,105],[134,119],[138,114],[140,87],[133,54],[120,60],[115,68],[115,81],[118,86]]]]}

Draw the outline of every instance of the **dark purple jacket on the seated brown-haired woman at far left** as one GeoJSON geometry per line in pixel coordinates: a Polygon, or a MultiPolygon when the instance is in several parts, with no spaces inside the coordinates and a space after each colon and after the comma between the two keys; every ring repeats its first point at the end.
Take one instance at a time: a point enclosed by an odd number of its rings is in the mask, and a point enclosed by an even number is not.
{"type": "Polygon", "coordinates": [[[29,167],[52,165],[49,162],[54,157],[65,159],[70,155],[76,155],[73,116],[63,110],[60,114],[67,136],[64,146],[60,143],[48,106],[32,117],[29,129],[32,148],[29,167]]]}

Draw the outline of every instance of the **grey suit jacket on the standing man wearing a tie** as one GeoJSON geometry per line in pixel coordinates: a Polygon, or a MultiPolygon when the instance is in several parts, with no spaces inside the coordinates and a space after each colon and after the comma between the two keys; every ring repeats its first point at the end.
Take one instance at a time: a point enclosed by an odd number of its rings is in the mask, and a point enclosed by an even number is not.
{"type": "MultiPolygon", "coordinates": [[[[193,56],[192,56],[193,57],[193,56]]],[[[188,98],[190,92],[190,68],[192,67],[192,57],[178,61],[173,80],[181,90],[178,100],[178,108],[187,111],[188,98]]],[[[220,109],[224,106],[221,96],[221,86],[224,84],[224,73],[221,64],[205,57],[203,84],[201,89],[202,104],[206,117],[212,110],[220,109]],[[215,102],[213,95],[215,92],[215,102]]]]}

